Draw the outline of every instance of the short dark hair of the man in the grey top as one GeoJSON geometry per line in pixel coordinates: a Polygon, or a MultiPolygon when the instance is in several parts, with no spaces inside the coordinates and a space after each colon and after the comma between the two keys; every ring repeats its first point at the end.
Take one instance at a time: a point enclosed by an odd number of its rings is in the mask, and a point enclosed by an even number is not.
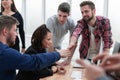
{"type": "Polygon", "coordinates": [[[63,2],[59,5],[58,11],[59,10],[69,14],[70,13],[70,5],[67,2],[63,2]]]}

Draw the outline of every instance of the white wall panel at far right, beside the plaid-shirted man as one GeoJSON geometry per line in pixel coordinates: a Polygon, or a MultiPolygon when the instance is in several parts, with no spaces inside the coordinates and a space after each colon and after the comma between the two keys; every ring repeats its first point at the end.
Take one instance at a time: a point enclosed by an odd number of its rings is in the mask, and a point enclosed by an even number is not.
{"type": "Polygon", "coordinates": [[[120,1],[109,0],[108,18],[111,21],[113,38],[120,42],[120,1]]]}

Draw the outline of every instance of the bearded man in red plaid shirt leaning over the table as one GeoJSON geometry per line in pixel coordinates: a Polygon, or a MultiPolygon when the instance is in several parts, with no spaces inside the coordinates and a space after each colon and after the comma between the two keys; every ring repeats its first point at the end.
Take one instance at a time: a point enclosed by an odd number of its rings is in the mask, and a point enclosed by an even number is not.
{"type": "MultiPolygon", "coordinates": [[[[101,43],[103,43],[103,54],[108,54],[112,46],[112,32],[108,18],[96,16],[95,4],[92,1],[83,1],[80,4],[82,19],[77,23],[74,29],[68,49],[74,53],[77,40],[82,35],[80,44],[80,58],[89,59],[90,61],[100,52],[101,43]]],[[[64,64],[70,63],[71,57],[64,61],[64,64]]]]}

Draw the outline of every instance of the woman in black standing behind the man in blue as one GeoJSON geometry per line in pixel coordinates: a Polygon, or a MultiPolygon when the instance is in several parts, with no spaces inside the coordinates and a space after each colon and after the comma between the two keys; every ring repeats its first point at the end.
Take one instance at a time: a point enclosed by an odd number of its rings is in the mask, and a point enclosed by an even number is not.
{"type": "Polygon", "coordinates": [[[17,26],[18,33],[21,38],[22,47],[20,48],[19,37],[16,37],[15,45],[10,46],[18,51],[25,52],[25,32],[24,32],[24,21],[22,15],[18,12],[15,7],[14,0],[1,0],[1,12],[0,15],[13,16],[19,21],[19,25],[17,26]]]}

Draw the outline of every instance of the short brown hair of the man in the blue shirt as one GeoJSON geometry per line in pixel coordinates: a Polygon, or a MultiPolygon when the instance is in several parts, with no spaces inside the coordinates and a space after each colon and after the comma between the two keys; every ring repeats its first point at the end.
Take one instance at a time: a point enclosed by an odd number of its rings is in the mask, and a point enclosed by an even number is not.
{"type": "Polygon", "coordinates": [[[6,27],[8,29],[12,28],[12,25],[19,24],[18,20],[12,16],[0,16],[0,33],[6,27]]]}

